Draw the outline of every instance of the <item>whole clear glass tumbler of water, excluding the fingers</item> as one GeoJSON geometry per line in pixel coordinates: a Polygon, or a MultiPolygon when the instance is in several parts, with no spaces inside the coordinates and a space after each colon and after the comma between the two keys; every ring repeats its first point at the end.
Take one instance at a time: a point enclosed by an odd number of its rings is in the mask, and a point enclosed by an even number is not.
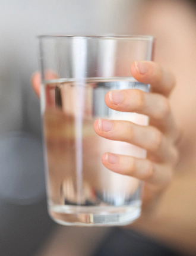
{"type": "Polygon", "coordinates": [[[105,94],[149,86],[131,77],[133,61],[151,60],[151,36],[39,36],[41,112],[48,210],[65,225],[123,225],[140,216],[142,183],[103,166],[105,152],[145,158],[146,151],[110,141],[93,129],[97,118],[143,126],[146,115],[109,109],[105,94]]]}

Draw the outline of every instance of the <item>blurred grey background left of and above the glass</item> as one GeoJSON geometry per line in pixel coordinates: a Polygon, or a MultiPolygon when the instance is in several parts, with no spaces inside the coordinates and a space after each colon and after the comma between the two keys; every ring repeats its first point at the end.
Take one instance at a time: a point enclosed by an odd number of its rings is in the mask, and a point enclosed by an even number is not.
{"type": "Polygon", "coordinates": [[[36,255],[58,227],[46,210],[40,107],[30,84],[39,68],[36,36],[131,35],[139,2],[1,0],[1,256],[36,255]]]}

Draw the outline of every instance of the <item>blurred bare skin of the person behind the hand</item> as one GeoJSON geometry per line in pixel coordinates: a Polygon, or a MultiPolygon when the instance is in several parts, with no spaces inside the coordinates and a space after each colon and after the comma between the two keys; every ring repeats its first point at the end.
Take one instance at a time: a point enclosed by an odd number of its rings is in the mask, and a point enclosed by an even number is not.
{"type": "Polygon", "coordinates": [[[181,133],[179,162],[170,185],[156,207],[132,226],[176,251],[196,255],[195,8],[189,1],[147,0],[141,9],[135,20],[137,33],[155,36],[154,60],[172,70],[176,79],[169,103],[181,133]]]}

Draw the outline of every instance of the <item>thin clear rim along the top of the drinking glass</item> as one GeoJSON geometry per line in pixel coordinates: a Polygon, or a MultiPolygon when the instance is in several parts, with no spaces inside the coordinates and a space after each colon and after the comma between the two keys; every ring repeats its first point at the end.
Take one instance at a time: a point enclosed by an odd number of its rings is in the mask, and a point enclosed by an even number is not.
{"type": "Polygon", "coordinates": [[[131,36],[73,36],[73,35],[38,35],[38,39],[126,39],[126,40],[148,40],[153,41],[154,36],[150,35],[131,35],[131,36]]]}

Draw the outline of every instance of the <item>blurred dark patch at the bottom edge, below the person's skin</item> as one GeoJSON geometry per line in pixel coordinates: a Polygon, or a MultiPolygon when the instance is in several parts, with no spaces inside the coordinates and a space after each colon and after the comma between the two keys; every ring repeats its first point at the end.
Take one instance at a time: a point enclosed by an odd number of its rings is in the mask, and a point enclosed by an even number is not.
{"type": "MultiPolygon", "coordinates": [[[[182,256],[134,230],[114,227],[92,256],[182,256]]],[[[184,255],[185,256],[185,255],[184,255]]],[[[186,255],[187,256],[187,255],[186,255]]]]}

